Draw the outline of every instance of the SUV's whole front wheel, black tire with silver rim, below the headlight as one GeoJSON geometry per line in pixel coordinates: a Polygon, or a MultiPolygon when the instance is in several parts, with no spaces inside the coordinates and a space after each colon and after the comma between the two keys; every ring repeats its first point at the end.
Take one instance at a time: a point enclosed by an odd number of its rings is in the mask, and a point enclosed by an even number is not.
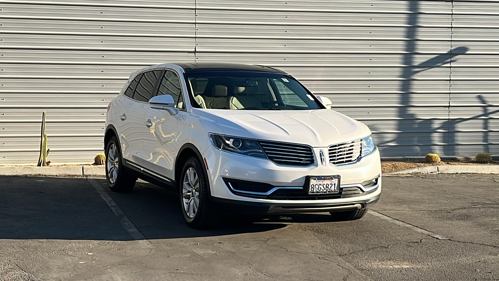
{"type": "Polygon", "coordinates": [[[205,169],[197,157],[187,159],[178,182],[180,206],[187,225],[196,229],[216,225],[219,213],[210,201],[205,169]]]}

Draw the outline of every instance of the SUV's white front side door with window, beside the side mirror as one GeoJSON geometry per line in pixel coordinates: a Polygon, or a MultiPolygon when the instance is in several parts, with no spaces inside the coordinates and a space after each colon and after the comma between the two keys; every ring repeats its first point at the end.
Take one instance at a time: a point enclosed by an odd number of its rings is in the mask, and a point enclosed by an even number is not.
{"type": "Polygon", "coordinates": [[[144,133],[144,149],[150,156],[145,167],[170,179],[174,178],[176,153],[181,145],[179,121],[185,120],[187,115],[180,81],[176,71],[166,69],[157,91],[158,95],[173,96],[178,113],[171,115],[166,110],[148,108],[144,117],[144,122],[151,125],[144,133]]]}

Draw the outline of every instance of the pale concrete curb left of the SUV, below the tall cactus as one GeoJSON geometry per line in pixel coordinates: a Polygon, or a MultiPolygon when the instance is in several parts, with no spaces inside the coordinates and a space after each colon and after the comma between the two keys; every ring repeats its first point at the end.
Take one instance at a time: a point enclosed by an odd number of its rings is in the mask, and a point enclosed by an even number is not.
{"type": "Polygon", "coordinates": [[[105,176],[104,166],[0,166],[0,175],[105,176]]]}

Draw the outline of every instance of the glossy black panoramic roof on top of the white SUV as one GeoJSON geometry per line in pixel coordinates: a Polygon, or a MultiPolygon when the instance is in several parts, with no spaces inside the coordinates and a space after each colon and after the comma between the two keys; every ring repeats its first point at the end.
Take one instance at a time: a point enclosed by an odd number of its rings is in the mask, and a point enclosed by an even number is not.
{"type": "Polygon", "coordinates": [[[258,71],[270,73],[286,72],[264,65],[251,65],[243,63],[222,63],[222,62],[187,62],[187,63],[174,63],[184,68],[186,72],[198,71],[258,71]]]}

